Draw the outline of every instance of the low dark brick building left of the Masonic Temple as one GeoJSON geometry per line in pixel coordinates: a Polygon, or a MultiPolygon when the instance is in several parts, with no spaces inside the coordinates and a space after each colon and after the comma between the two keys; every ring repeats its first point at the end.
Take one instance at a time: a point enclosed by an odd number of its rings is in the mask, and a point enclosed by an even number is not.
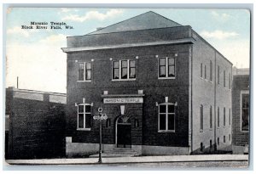
{"type": "Polygon", "coordinates": [[[6,159],[65,156],[64,93],[6,89],[6,159]]]}

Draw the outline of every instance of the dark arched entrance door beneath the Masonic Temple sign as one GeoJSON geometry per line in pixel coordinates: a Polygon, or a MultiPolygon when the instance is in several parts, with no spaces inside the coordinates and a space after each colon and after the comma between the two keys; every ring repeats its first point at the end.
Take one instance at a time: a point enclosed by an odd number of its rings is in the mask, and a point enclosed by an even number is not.
{"type": "Polygon", "coordinates": [[[131,121],[129,117],[119,117],[116,128],[117,148],[131,148],[131,121]]]}

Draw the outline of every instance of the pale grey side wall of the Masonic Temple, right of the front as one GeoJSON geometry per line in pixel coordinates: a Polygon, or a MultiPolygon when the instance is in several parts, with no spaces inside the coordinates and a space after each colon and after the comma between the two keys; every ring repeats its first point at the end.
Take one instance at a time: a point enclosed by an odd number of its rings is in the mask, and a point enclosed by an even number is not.
{"type": "Polygon", "coordinates": [[[231,76],[232,65],[218,53],[212,46],[207,44],[201,36],[193,33],[196,42],[192,48],[192,151],[210,147],[212,149],[219,138],[218,149],[230,145],[229,134],[231,125],[228,123],[229,109],[231,109],[231,89],[229,89],[229,73],[231,76]],[[210,80],[210,61],[212,61],[212,81],[210,80]],[[202,64],[202,77],[201,77],[202,64]],[[217,67],[220,66],[220,84],[217,84],[217,67]],[[207,77],[205,69],[207,68],[207,77]],[[223,70],[226,70],[226,87],[223,85],[223,70]],[[203,130],[200,127],[200,107],[203,106],[203,130]],[[210,107],[212,106],[212,128],[210,128],[210,107]],[[220,127],[217,124],[217,109],[220,109],[220,127]],[[226,126],[223,124],[223,108],[226,108],[226,126]],[[223,143],[224,135],[226,143],[223,143]],[[216,139],[215,139],[216,138],[216,139]]]}

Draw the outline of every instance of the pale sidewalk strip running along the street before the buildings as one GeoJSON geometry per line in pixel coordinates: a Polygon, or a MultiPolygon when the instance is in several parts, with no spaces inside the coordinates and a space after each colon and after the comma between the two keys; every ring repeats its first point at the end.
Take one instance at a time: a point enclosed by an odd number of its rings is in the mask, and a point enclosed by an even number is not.
{"type": "MultiPolygon", "coordinates": [[[[102,164],[247,161],[247,160],[248,160],[247,154],[166,155],[166,156],[102,158],[102,164]]],[[[98,164],[98,158],[6,160],[6,162],[9,163],[9,165],[93,165],[93,164],[98,164]]]]}

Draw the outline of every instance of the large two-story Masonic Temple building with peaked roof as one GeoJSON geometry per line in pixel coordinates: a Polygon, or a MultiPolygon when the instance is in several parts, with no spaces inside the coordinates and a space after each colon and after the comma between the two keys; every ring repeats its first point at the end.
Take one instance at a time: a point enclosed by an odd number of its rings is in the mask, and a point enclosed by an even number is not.
{"type": "Polygon", "coordinates": [[[148,12],[68,36],[67,155],[191,154],[231,144],[230,61],[189,25],[148,12]]]}

